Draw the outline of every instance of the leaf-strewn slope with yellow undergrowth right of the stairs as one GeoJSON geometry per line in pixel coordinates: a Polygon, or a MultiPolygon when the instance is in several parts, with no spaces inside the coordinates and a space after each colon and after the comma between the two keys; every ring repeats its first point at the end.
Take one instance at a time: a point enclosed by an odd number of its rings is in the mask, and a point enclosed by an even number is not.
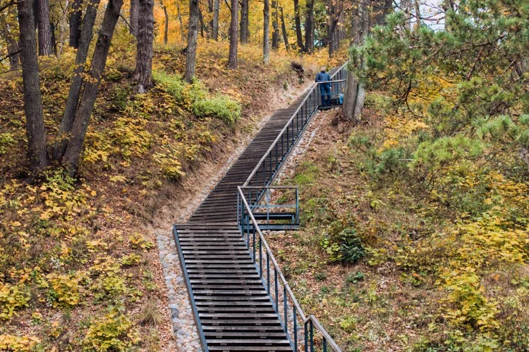
{"type": "Polygon", "coordinates": [[[287,177],[300,185],[302,230],[269,243],[298,301],[344,351],[526,351],[529,175],[516,149],[489,144],[433,184],[382,168],[384,150],[414,145],[431,127],[382,111],[380,97],[370,96],[360,125],[324,117],[287,177]],[[358,263],[332,260],[344,229],[365,247],[358,263]]]}

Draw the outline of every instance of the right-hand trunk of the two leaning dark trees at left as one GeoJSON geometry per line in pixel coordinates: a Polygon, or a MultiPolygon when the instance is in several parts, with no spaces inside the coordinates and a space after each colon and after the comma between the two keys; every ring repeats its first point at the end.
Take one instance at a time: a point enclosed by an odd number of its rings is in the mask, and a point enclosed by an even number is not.
{"type": "Polygon", "coordinates": [[[90,71],[88,72],[89,77],[85,81],[83,96],[81,96],[79,108],[77,113],[75,113],[71,138],[68,141],[66,153],[64,153],[63,157],[63,164],[66,165],[71,175],[77,170],[80,154],[83,150],[88,122],[92,114],[92,109],[94,108],[97,89],[99,89],[101,82],[101,75],[107,63],[110,42],[114,34],[114,29],[116,28],[116,23],[118,22],[121,5],[123,5],[123,0],[109,0],[107,10],[104,13],[103,22],[99,30],[99,37],[95,44],[94,55],[92,56],[90,71]]]}

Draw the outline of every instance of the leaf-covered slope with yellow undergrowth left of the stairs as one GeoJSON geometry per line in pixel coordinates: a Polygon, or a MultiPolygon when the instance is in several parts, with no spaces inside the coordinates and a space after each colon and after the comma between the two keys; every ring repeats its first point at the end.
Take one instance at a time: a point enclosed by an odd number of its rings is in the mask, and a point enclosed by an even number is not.
{"type": "MultiPolygon", "coordinates": [[[[180,47],[159,48],[157,84],[133,96],[133,51],[121,30],[87,133],[78,179],[50,170],[26,182],[20,77],[0,80],[0,350],[170,346],[169,313],[154,235],[145,223],[202,161],[230,153],[276,97],[298,89],[290,54],[260,64],[260,48],[240,49],[240,69],[225,68],[227,44],[201,43],[200,84],[183,85],[180,47]],[[123,44],[120,44],[123,43],[123,44]],[[197,96],[225,94],[243,107],[233,127],[196,118],[197,96]],[[116,338],[112,340],[112,338],[116,338]]],[[[305,79],[319,64],[303,59],[305,79]]],[[[56,134],[73,53],[41,62],[44,118],[56,134]]]]}

